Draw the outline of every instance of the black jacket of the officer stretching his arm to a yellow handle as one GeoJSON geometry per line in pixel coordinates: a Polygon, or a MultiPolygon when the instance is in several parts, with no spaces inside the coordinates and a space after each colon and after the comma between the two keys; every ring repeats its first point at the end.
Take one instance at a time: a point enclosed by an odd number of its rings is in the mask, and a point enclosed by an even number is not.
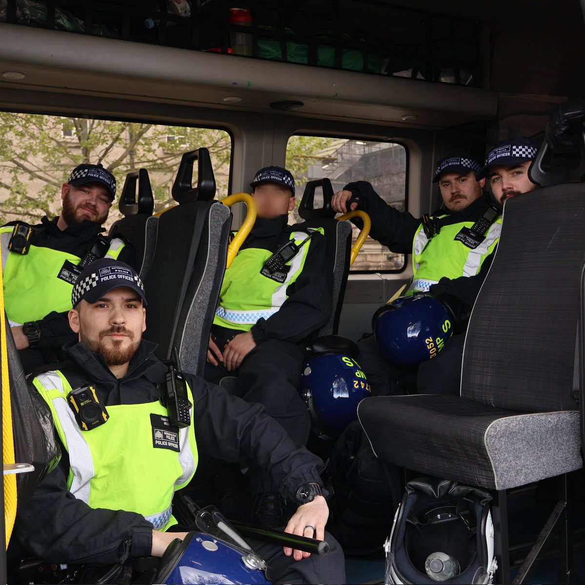
{"type": "MultiPolygon", "coordinates": [[[[372,238],[378,240],[384,246],[388,246],[392,252],[397,254],[412,253],[412,242],[422,223],[421,218],[416,218],[407,211],[398,211],[398,209],[388,205],[374,191],[372,185],[366,181],[349,183],[345,185],[344,189],[351,191],[352,198],[350,201],[357,201],[358,209],[363,209],[370,215],[372,222],[370,236],[372,238]]],[[[433,216],[445,215],[444,218],[439,219],[439,226],[468,221],[474,222],[483,216],[490,205],[493,205],[490,195],[484,194],[461,211],[439,209],[433,213],[433,216]]],[[[430,292],[436,295],[452,295],[469,307],[473,307],[475,298],[485,279],[485,274],[487,274],[487,270],[491,265],[492,258],[493,254],[490,254],[481,264],[481,269],[475,276],[461,276],[453,279],[441,278],[438,284],[433,284],[430,287],[430,292]]]]}

